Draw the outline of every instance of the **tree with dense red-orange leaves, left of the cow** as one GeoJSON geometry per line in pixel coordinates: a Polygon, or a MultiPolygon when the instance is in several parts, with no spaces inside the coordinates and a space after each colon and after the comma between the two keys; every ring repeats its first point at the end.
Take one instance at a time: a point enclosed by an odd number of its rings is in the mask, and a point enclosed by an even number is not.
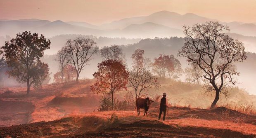
{"type": "Polygon", "coordinates": [[[97,94],[111,94],[112,109],[114,106],[113,94],[116,91],[127,90],[128,72],[125,66],[120,61],[106,60],[98,64],[98,71],[93,73],[96,79],[94,85],[91,86],[91,91],[97,94]]]}

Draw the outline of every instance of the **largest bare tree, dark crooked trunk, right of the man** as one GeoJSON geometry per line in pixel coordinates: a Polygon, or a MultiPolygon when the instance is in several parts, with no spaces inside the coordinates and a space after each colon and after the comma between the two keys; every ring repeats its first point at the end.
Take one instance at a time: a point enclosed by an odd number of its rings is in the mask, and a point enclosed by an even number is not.
{"type": "Polygon", "coordinates": [[[187,37],[178,55],[186,57],[188,63],[197,65],[203,71],[197,79],[202,78],[206,91],[215,91],[211,104],[211,108],[214,108],[221,93],[228,95],[225,88],[237,83],[234,76],[239,73],[234,63],[247,58],[244,44],[223,33],[230,29],[217,21],[183,28],[187,37]]]}

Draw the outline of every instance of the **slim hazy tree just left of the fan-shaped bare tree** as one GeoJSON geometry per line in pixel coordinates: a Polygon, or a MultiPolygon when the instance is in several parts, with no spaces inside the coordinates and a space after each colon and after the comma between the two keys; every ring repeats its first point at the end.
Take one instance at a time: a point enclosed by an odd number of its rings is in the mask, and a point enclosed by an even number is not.
{"type": "Polygon", "coordinates": [[[62,47],[57,53],[57,58],[54,59],[55,61],[59,62],[59,70],[61,73],[61,82],[63,82],[63,77],[64,77],[64,68],[68,64],[68,52],[65,52],[65,47],[62,47]]]}

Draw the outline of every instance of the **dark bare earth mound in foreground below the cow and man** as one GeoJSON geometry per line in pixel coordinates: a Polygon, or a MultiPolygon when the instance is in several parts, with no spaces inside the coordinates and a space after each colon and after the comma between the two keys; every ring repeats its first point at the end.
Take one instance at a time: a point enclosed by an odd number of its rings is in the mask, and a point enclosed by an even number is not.
{"type": "Polygon", "coordinates": [[[174,127],[156,120],[140,120],[73,138],[255,138],[240,132],[202,127],[174,127]]]}

